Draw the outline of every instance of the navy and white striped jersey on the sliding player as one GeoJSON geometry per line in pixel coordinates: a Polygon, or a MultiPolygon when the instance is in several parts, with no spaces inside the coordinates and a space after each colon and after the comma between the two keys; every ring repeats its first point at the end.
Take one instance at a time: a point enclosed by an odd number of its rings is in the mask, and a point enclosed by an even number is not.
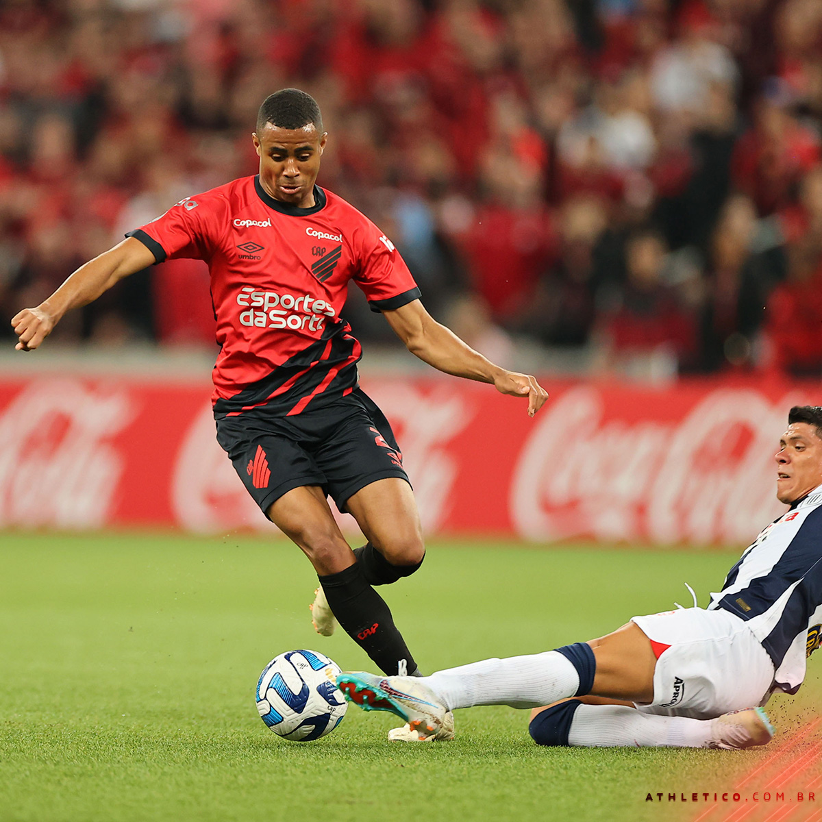
{"type": "Polygon", "coordinates": [[[741,617],[774,661],[775,684],[796,693],[822,625],[822,485],[760,533],[728,572],[709,610],[741,617]]]}

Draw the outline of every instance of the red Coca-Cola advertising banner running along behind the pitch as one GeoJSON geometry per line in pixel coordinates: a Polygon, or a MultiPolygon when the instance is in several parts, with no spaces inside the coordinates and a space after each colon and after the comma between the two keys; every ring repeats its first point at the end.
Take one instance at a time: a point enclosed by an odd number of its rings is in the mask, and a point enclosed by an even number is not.
{"type": "MultiPolygon", "coordinates": [[[[746,543],[783,510],[787,409],[822,400],[813,385],[755,381],[544,384],[530,419],[491,386],[363,380],[427,533],[746,543]]],[[[215,441],[209,396],[159,379],[0,380],[0,527],[270,532],[215,441]]]]}

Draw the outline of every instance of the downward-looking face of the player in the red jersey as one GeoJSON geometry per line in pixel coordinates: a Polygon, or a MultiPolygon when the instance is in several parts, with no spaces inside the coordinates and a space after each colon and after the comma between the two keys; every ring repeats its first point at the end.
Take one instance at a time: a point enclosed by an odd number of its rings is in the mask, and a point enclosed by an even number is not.
{"type": "Polygon", "coordinates": [[[326,147],[326,132],[309,123],[302,128],[278,128],[270,123],[252,134],[260,157],[260,182],[275,200],[298,208],[311,208],[314,181],[326,147]]]}

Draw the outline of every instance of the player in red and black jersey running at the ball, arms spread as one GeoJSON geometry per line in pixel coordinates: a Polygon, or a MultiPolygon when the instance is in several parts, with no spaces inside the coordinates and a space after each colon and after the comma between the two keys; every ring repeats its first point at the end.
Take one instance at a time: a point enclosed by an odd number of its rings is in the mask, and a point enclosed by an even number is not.
{"type": "Polygon", "coordinates": [[[425,548],[390,425],[358,388],[360,344],[339,312],[349,281],[409,351],[440,371],[547,398],[533,376],[488,362],[420,302],[420,291],[374,224],[315,185],[326,146],[310,95],[266,98],[252,140],[260,173],[173,205],[77,269],[38,307],[12,319],[16,348],[39,347],[60,318],[118,280],[175,257],[205,260],[217,319],[217,440],[263,513],[302,548],[320,580],[316,629],[335,618],[386,674],[417,664],[373,586],[412,574],[425,548]],[[352,551],[326,495],[353,515],[367,544],[352,551]]]}

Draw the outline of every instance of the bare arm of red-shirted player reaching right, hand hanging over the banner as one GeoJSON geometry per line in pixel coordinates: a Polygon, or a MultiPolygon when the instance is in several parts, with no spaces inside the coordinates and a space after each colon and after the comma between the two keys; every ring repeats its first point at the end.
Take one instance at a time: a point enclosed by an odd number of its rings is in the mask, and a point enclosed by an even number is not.
{"type": "Polygon", "coordinates": [[[405,347],[439,371],[490,382],[502,394],[527,397],[529,417],[533,417],[548,398],[547,391],[533,376],[494,365],[438,323],[419,300],[382,313],[405,347]]]}

